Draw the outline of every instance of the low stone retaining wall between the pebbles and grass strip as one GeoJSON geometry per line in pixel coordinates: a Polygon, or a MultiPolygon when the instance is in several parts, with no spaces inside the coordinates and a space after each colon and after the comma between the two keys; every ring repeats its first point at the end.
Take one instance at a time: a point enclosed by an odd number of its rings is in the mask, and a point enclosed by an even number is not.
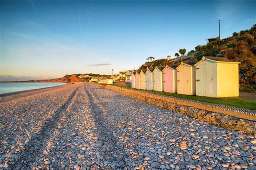
{"type": "Polygon", "coordinates": [[[192,103],[190,101],[179,100],[175,97],[169,98],[169,97],[164,97],[156,94],[149,94],[142,91],[126,89],[126,88],[121,88],[116,86],[109,86],[109,85],[103,86],[103,87],[106,89],[118,91],[129,97],[137,98],[138,100],[149,103],[149,104],[153,104],[169,110],[177,111],[181,114],[185,114],[190,117],[197,118],[214,125],[222,126],[230,130],[242,131],[243,133],[246,133],[250,136],[255,137],[255,128],[256,128],[255,126],[256,124],[254,122],[255,115],[252,115],[251,117],[248,116],[250,114],[247,115],[246,118],[249,117],[250,119],[254,119],[254,121],[250,121],[248,119],[241,118],[240,115],[237,116],[237,113],[232,115],[230,113],[225,114],[224,111],[222,111],[224,113],[215,111],[217,109],[211,108],[211,105],[207,105],[207,107],[204,107],[204,105],[192,103]]]}

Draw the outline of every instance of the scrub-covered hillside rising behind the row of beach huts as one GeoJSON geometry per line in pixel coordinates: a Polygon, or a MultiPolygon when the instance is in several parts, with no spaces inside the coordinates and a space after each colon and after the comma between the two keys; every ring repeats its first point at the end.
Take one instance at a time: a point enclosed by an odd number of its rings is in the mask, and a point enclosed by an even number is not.
{"type": "MultiPolygon", "coordinates": [[[[256,91],[256,25],[250,30],[234,32],[233,36],[212,41],[206,45],[198,45],[195,52],[183,57],[186,62],[198,62],[203,56],[220,56],[230,60],[241,62],[239,65],[239,86],[240,88],[256,91]]],[[[167,62],[166,59],[145,62],[141,69],[155,66],[179,65],[180,58],[172,59],[167,62]]]]}

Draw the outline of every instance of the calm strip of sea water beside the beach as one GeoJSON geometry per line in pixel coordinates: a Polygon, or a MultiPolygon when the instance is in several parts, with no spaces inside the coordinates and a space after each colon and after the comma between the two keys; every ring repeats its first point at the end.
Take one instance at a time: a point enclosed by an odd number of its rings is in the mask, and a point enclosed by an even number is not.
{"type": "Polygon", "coordinates": [[[45,87],[60,86],[66,83],[0,83],[0,94],[45,87]]]}

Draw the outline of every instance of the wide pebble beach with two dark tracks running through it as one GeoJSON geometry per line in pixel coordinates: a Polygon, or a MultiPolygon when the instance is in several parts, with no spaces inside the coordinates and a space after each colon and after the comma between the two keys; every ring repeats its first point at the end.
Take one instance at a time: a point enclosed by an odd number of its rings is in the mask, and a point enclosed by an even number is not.
{"type": "Polygon", "coordinates": [[[95,84],[0,95],[0,169],[256,169],[256,139],[95,84]]]}

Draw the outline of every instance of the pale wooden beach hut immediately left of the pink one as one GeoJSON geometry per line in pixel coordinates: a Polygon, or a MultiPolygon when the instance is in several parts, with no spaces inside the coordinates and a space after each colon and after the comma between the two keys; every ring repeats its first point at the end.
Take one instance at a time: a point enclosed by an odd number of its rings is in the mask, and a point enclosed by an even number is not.
{"type": "Polygon", "coordinates": [[[163,66],[157,66],[153,70],[153,90],[154,91],[163,91],[164,83],[163,83],[163,66]]]}

